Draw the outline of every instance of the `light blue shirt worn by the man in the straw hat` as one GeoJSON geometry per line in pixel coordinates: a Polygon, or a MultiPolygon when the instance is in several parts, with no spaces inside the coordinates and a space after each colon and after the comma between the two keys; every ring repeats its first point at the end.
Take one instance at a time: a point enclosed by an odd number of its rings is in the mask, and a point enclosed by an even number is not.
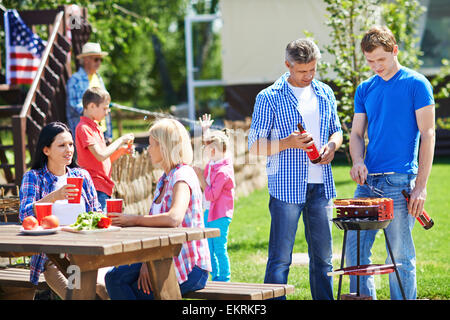
{"type": "MultiPolygon", "coordinates": [[[[97,74],[102,89],[106,90],[102,77],[97,74]]],[[[69,81],[67,81],[67,105],[66,116],[72,135],[75,137],[75,128],[80,122],[80,116],[83,115],[83,94],[89,88],[89,78],[86,71],[80,67],[69,81]]],[[[112,138],[111,114],[106,116],[105,138],[112,138]]]]}

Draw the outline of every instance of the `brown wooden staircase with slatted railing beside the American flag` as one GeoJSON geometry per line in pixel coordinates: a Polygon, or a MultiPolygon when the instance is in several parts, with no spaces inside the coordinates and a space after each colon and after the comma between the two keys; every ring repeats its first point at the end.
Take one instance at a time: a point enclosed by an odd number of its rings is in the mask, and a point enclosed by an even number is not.
{"type": "MultiPolygon", "coordinates": [[[[14,194],[30,166],[27,159],[33,159],[42,127],[52,121],[66,122],[66,84],[72,74],[69,55],[72,43],[76,44],[73,46],[76,56],[91,32],[83,17],[85,23],[81,28],[72,30],[71,43],[66,37],[66,10],[67,6],[19,11],[24,22],[32,29],[35,25],[48,25],[49,37],[36,77],[26,92],[23,86],[0,85],[0,98],[4,104],[0,105],[0,169],[4,175],[0,187],[14,194]],[[13,137],[12,144],[2,140],[3,136],[8,135],[7,132],[13,137]],[[14,152],[14,159],[11,156],[8,159],[10,150],[14,152]]],[[[86,10],[83,12],[86,14],[86,10]]]]}

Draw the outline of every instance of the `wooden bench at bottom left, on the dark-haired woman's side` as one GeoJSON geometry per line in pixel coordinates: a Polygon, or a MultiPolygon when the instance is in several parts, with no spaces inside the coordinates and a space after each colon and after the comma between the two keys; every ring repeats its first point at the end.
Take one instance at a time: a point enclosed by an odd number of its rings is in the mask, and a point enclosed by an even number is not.
{"type": "Polygon", "coordinates": [[[0,300],[33,300],[36,290],[48,288],[43,274],[34,285],[30,282],[29,269],[0,268],[0,300]]]}

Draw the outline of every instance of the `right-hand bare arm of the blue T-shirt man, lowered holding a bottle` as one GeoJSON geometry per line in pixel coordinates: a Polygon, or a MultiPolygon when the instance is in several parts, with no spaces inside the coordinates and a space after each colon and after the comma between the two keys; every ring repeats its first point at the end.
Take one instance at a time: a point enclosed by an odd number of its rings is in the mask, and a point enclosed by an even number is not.
{"type": "Polygon", "coordinates": [[[420,131],[419,169],[415,187],[411,192],[408,211],[417,217],[422,213],[427,198],[427,182],[431,173],[434,157],[435,128],[434,105],[416,111],[417,126],[420,131]]]}

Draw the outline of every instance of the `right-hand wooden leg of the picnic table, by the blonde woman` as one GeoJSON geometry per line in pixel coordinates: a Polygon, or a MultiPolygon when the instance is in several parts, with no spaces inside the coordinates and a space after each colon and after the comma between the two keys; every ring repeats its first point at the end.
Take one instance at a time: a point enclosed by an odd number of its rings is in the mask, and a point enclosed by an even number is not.
{"type": "Polygon", "coordinates": [[[158,300],[180,300],[181,292],[172,258],[147,262],[153,294],[158,300]]]}

